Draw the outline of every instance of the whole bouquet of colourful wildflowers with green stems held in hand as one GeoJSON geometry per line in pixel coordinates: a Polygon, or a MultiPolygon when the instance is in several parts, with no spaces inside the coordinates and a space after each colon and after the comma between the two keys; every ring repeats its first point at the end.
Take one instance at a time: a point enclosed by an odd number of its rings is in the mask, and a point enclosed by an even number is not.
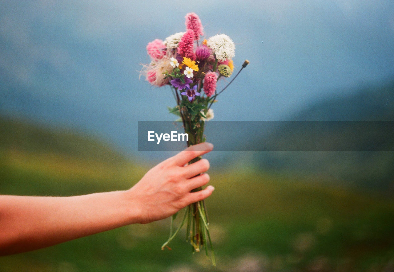
{"type": "MultiPolygon", "coordinates": [[[[195,13],[186,15],[185,24],[186,32],[175,33],[164,41],[156,39],[148,43],[147,53],[151,57],[151,63],[144,65],[143,74],[151,85],[171,87],[177,105],[169,107],[169,112],[180,117],[189,136],[190,146],[205,141],[204,122],[214,117],[212,103],[232,82],[217,92],[217,81],[221,77],[230,77],[234,70],[232,58],[235,55],[235,45],[225,34],[201,41],[203,26],[195,13]]],[[[242,68],[248,63],[245,61],[242,68]]],[[[189,163],[200,159],[196,158],[189,163]]],[[[189,205],[180,226],[173,232],[175,217],[176,215],[171,221],[170,237],[162,249],[168,247],[167,244],[186,223],[186,238],[193,246],[193,252],[199,252],[203,246],[209,257],[209,243],[211,259],[215,264],[204,202],[189,205]]]]}

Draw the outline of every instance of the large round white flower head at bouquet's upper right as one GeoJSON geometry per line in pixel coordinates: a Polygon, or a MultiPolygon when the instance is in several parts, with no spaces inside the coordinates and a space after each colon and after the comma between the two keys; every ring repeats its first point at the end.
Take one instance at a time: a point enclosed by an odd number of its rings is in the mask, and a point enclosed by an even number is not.
{"type": "Polygon", "coordinates": [[[210,37],[206,45],[212,49],[216,59],[219,61],[232,59],[235,56],[235,44],[230,37],[225,34],[210,37]]]}

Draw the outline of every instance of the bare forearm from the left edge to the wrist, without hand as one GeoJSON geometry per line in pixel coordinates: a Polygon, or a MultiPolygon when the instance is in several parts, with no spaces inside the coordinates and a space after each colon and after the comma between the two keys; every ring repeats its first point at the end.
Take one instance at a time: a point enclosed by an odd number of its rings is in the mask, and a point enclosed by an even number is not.
{"type": "Polygon", "coordinates": [[[0,255],[44,248],[136,221],[125,191],[74,197],[0,196],[0,255]]]}

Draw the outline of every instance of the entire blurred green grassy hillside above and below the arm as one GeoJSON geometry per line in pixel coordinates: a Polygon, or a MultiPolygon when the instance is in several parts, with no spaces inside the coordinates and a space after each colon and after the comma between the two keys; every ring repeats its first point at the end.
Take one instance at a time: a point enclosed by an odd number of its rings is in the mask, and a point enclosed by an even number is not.
{"type": "MultiPolygon", "coordinates": [[[[7,121],[1,130],[8,139],[1,145],[2,194],[126,189],[149,168],[88,136],[20,121],[7,121]],[[21,134],[19,143],[13,140],[21,134]]],[[[209,173],[216,187],[206,201],[216,267],[204,254],[191,254],[184,231],[169,245],[171,251],[160,250],[169,228],[169,221],[163,220],[0,257],[0,271],[392,270],[392,199],[325,185],[329,177],[324,176],[288,178],[214,165],[209,173]]]]}

